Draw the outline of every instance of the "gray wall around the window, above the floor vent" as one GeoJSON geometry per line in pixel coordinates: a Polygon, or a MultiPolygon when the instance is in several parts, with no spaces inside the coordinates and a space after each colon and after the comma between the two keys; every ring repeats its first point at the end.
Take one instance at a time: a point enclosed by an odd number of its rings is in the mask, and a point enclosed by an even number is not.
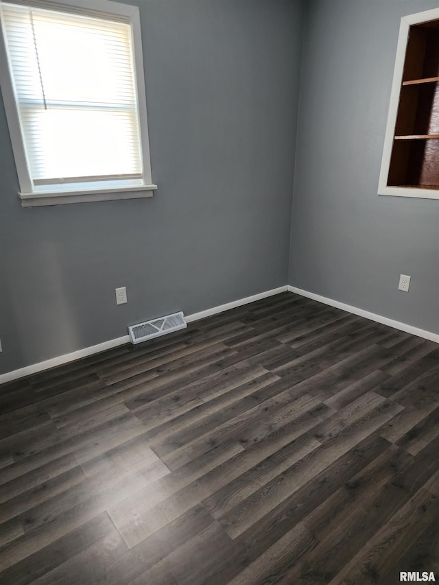
{"type": "Polygon", "coordinates": [[[21,208],[0,102],[0,373],[287,282],[302,3],[138,2],[154,198],[21,208]]]}

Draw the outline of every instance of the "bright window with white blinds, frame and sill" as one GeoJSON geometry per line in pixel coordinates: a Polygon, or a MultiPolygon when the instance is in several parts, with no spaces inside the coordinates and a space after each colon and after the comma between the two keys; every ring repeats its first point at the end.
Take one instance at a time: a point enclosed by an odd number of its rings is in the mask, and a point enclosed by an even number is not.
{"type": "Polygon", "coordinates": [[[139,9],[12,0],[0,11],[23,206],[150,197],[139,9]]]}

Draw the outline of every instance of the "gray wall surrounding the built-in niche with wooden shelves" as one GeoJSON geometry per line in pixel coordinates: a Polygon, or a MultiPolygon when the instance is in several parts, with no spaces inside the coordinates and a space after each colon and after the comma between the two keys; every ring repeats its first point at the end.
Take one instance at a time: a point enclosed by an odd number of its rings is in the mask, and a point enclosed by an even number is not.
{"type": "Polygon", "coordinates": [[[289,284],[439,333],[439,201],[377,195],[399,21],[438,0],[307,3],[289,284]],[[408,294],[399,274],[412,276],[408,294]]]}

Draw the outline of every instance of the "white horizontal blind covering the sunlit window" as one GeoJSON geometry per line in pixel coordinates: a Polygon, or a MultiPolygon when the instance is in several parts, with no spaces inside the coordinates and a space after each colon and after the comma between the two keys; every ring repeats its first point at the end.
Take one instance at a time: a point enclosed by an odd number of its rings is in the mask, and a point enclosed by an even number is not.
{"type": "Polygon", "coordinates": [[[34,191],[142,184],[130,23],[65,7],[0,6],[34,191]]]}

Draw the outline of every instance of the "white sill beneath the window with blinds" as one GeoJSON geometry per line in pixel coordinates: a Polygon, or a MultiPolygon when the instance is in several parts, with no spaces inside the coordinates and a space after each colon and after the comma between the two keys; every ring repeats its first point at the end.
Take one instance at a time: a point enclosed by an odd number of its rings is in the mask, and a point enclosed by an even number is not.
{"type": "Polygon", "coordinates": [[[122,199],[143,199],[152,197],[157,185],[137,185],[117,189],[93,189],[90,191],[45,191],[19,193],[22,207],[65,205],[69,203],[90,203],[93,201],[117,201],[122,199]]]}

